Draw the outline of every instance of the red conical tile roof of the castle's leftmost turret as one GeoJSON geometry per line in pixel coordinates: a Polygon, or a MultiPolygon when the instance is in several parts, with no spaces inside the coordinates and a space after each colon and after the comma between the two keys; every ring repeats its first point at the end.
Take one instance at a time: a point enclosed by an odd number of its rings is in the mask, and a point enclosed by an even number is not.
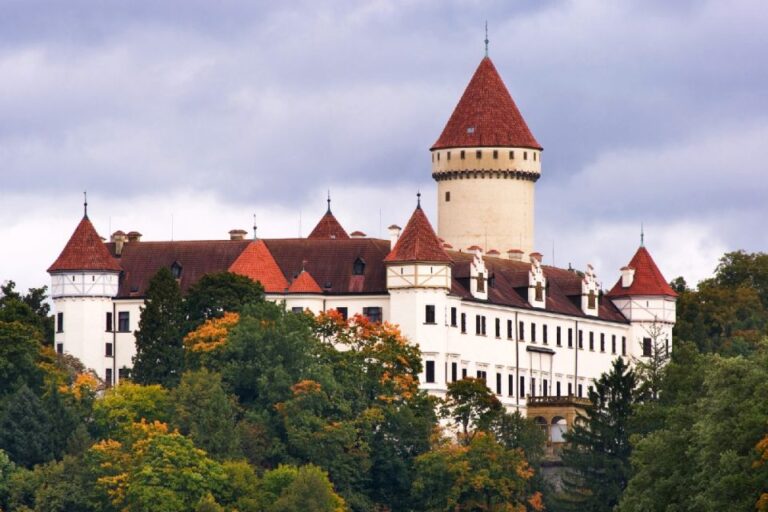
{"type": "Polygon", "coordinates": [[[88,220],[83,217],[75,232],[69,237],[67,245],[59,257],[48,267],[48,272],[63,272],[67,270],[122,270],[120,264],[109,254],[101,237],[88,220]]]}

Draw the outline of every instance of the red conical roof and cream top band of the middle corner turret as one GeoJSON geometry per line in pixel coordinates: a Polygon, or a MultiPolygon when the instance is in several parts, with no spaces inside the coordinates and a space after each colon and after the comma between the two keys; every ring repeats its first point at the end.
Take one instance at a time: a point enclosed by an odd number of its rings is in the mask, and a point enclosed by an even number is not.
{"type": "MultiPolygon", "coordinates": [[[[419,194],[420,196],[420,194],[419,194]]],[[[421,202],[384,258],[387,288],[451,288],[451,258],[429,223],[421,202]]]]}

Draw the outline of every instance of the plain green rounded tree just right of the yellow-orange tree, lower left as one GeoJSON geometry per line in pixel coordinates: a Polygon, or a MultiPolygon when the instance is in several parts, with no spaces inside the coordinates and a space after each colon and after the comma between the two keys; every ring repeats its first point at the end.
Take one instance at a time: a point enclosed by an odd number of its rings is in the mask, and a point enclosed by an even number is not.
{"type": "Polygon", "coordinates": [[[240,455],[237,407],[221,376],[206,369],[186,372],[171,392],[173,424],[195,445],[217,459],[240,455]]]}

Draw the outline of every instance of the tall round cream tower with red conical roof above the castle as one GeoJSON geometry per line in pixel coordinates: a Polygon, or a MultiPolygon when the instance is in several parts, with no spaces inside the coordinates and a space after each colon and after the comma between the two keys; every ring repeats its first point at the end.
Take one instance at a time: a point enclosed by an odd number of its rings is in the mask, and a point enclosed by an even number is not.
{"type": "Polygon", "coordinates": [[[430,151],[441,238],[457,249],[533,252],[542,147],[489,57],[430,151]]]}

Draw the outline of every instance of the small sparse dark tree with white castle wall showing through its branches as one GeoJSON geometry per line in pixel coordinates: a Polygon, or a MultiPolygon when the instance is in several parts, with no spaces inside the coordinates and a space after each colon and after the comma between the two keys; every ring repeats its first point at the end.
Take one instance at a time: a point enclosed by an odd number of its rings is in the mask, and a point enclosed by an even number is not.
{"type": "Polygon", "coordinates": [[[461,427],[462,442],[469,444],[474,432],[487,431],[503,408],[483,379],[466,377],[448,384],[441,415],[461,427]]]}

